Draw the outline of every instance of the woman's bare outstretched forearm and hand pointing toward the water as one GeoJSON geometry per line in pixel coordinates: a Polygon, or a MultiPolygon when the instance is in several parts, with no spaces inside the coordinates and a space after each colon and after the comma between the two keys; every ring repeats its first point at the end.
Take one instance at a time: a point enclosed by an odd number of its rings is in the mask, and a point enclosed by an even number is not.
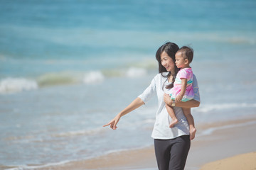
{"type": "Polygon", "coordinates": [[[103,125],[103,127],[110,125],[110,128],[113,130],[117,129],[117,123],[119,122],[119,119],[126,115],[127,113],[130,113],[131,111],[134,111],[136,108],[139,108],[140,106],[144,105],[144,101],[142,101],[141,98],[137,97],[135,98],[132,103],[130,103],[124,110],[122,110],[120,113],[118,113],[111,121],[110,123],[107,123],[106,125],[103,125]]]}

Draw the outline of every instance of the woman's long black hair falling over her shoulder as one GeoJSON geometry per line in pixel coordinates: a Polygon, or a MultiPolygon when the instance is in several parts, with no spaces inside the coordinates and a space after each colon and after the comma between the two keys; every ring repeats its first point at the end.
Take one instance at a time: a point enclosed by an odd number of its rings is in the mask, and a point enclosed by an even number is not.
{"type": "MultiPolygon", "coordinates": [[[[169,57],[171,57],[171,59],[175,62],[175,54],[178,51],[178,49],[179,49],[178,45],[176,45],[174,42],[166,42],[164,45],[159,47],[159,49],[156,51],[156,60],[159,62],[159,73],[161,73],[162,77],[167,77],[166,81],[171,76],[171,72],[169,72],[169,74],[167,74],[167,76],[163,75],[163,72],[167,72],[167,70],[161,64],[161,53],[166,52],[167,55],[169,55],[169,57]]],[[[176,79],[176,75],[177,75],[178,70],[179,70],[178,67],[176,67],[176,64],[174,64],[174,67],[175,67],[174,77],[171,80],[171,84],[166,86],[166,89],[171,89],[171,88],[174,87],[174,81],[176,79]]],[[[164,89],[164,86],[163,86],[163,89],[164,89]]]]}

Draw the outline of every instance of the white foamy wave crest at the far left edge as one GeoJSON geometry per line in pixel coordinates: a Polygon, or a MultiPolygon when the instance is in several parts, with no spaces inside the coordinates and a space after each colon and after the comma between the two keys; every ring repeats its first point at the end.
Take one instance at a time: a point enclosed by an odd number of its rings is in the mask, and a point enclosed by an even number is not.
{"type": "Polygon", "coordinates": [[[38,89],[38,84],[34,80],[25,78],[6,78],[0,81],[0,94],[15,93],[19,91],[29,91],[38,89]]]}

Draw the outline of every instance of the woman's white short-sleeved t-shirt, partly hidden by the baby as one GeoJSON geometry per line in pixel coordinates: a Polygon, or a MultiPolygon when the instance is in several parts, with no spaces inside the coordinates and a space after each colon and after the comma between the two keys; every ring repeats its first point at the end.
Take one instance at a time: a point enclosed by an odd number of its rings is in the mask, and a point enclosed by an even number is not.
{"type": "MultiPolygon", "coordinates": [[[[163,73],[164,76],[167,74],[168,72],[163,73]]],[[[152,96],[155,94],[157,95],[159,107],[156,111],[156,122],[154,124],[151,137],[161,140],[174,139],[182,135],[189,135],[188,122],[185,115],[183,114],[182,108],[180,107],[174,107],[174,112],[178,118],[178,123],[174,126],[174,128],[169,128],[171,117],[166,111],[164,94],[169,94],[171,89],[165,88],[165,86],[169,84],[166,79],[167,77],[163,77],[161,73],[156,74],[154,79],[151,81],[151,84],[141,95],[138,96],[142,99],[142,101],[144,101],[144,103],[146,103],[152,96]]],[[[198,82],[195,75],[193,75],[193,91],[195,94],[193,99],[200,101],[198,82]]]]}

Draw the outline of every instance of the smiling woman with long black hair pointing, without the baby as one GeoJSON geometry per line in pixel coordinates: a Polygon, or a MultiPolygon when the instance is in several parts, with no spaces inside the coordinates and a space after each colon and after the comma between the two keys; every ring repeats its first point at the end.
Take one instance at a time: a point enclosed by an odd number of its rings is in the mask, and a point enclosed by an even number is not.
{"type": "Polygon", "coordinates": [[[173,42],[167,42],[159,47],[159,50],[156,52],[156,60],[159,62],[159,74],[154,77],[146,90],[132,101],[127,108],[118,113],[110,123],[104,125],[104,127],[110,125],[110,128],[116,130],[117,123],[123,115],[144,105],[156,94],[159,108],[156,112],[156,122],[151,137],[154,138],[156,161],[159,170],[184,169],[191,141],[189,139],[188,122],[183,115],[182,108],[198,107],[200,104],[195,76],[193,79],[193,91],[195,94],[193,100],[175,103],[171,101],[168,95],[170,89],[174,86],[173,83],[178,72],[178,68],[174,64],[177,51],[178,45],[173,42]],[[178,118],[178,123],[174,128],[169,128],[171,118],[166,111],[165,104],[174,108],[178,118]]]}

